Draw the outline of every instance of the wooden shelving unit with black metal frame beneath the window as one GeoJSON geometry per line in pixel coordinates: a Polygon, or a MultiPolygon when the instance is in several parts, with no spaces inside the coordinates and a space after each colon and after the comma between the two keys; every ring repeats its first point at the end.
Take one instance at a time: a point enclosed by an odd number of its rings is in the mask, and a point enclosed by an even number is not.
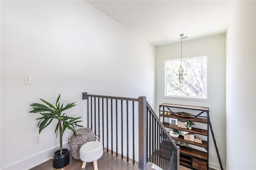
{"type": "MultiPolygon", "coordinates": [[[[177,110],[177,109],[176,109],[177,110]]],[[[162,124],[166,128],[172,128],[176,130],[182,130],[186,132],[190,132],[193,134],[200,134],[203,136],[207,136],[207,140],[202,140],[202,144],[184,140],[184,136],[178,136],[177,138],[172,137],[173,140],[178,140],[180,142],[188,143],[192,148],[188,148],[186,146],[180,146],[180,165],[188,167],[193,170],[208,170],[208,164],[209,164],[209,153],[208,153],[208,146],[209,146],[209,108],[208,107],[195,107],[195,106],[186,106],[186,105],[173,105],[173,104],[167,104],[163,103],[159,106],[159,117],[162,117],[162,124]],[[187,110],[196,110],[200,111],[197,115],[191,115],[190,117],[181,117],[178,115],[174,115],[174,112],[172,112],[173,108],[178,108],[180,111],[183,111],[183,109],[187,110]],[[164,114],[168,113],[168,114],[164,114]],[[205,114],[206,113],[206,114],[205,114]],[[206,116],[202,116],[202,114],[206,116]],[[195,128],[193,127],[191,130],[186,128],[180,128],[175,124],[169,123],[168,118],[178,119],[182,121],[193,121],[196,123],[203,123],[205,124],[205,129],[202,128],[195,128]],[[204,148],[201,151],[196,148],[193,148],[195,146],[199,146],[201,148],[204,148]]],[[[161,120],[161,119],[160,119],[161,120]]]]}

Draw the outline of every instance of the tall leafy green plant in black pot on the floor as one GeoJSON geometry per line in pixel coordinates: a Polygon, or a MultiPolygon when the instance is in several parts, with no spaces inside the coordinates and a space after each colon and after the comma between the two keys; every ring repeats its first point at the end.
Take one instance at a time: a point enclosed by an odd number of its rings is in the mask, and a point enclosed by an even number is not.
{"type": "Polygon", "coordinates": [[[81,117],[68,117],[66,113],[62,113],[63,111],[66,111],[72,107],[75,106],[75,103],[68,103],[65,107],[60,105],[60,95],[58,96],[55,106],[48,103],[47,101],[40,99],[44,102],[44,104],[40,103],[33,103],[32,108],[33,110],[29,113],[40,113],[42,117],[36,119],[40,120],[37,127],[39,128],[39,134],[40,132],[46,128],[48,125],[52,123],[52,120],[56,119],[58,121],[56,128],[55,128],[55,134],[56,137],[58,135],[60,136],[60,149],[56,150],[53,154],[53,168],[59,169],[64,168],[69,164],[70,156],[69,156],[69,149],[68,148],[62,148],[62,136],[64,131],[68,128],[72,130],[74,135],[76,136],[76,127],[82,127],[78,125],[77,123],[82,122],[79,121],[81,117]]]}

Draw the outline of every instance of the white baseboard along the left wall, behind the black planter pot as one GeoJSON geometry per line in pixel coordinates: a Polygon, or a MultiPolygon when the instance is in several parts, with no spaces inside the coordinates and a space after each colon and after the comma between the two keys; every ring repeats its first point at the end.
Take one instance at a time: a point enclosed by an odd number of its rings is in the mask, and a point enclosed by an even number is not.
{"type": "MultiPolygon", "coordinates": [[[[58,150],[60,145],[54,146],[48,150],[42,151],[38,154],[34,154],[27,158],[24,158],[20,161],[14,162],[8,166],[3,167],[1,170],[14,170],[19,167],[20,170],[28,170],[31,169],[47,160],[52,159],[52,154],[55,150],[58,150]]],[[[69,148],[68,142],[63,143],[63,148],[69,148]]]]}

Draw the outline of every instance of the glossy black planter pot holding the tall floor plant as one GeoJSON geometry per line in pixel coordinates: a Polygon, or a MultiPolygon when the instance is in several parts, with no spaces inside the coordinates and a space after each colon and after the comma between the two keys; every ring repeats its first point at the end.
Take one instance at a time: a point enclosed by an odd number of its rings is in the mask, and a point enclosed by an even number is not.
{"type": "Polygon", "coordinates": [[[52,166],[54,169],[64,168],[69,164],[69,149],[62,148],[62,155],[60,155],[60,149],[53,153],[54,159],[52,160],[52,166]]]}

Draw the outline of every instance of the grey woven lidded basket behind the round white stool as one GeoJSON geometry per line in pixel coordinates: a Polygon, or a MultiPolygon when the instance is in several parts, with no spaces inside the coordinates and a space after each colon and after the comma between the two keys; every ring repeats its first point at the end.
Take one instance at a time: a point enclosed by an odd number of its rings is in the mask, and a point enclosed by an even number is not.
{"type": "Polygon", "coordinates": [[[87,142],[95,141],[96,135],[91,128],[76,129],[76,136],[74,134],[68,139],[71,155],[74,159],[80,159],[79,150],[81,146],[87,142]]]}

